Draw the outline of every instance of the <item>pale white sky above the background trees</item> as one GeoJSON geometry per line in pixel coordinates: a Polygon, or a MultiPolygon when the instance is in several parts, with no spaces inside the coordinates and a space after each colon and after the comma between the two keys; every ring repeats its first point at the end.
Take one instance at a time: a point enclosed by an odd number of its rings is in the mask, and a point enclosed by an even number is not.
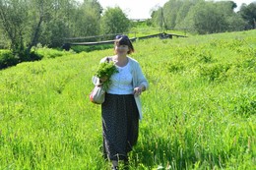
{"type": "MultiPolygon", "coordinates": [[[[151,11],[156,7],[162,7],[168,0],[98,0],[103,9],[107,7],[120,7],[129,19],[149,19],[151,11]]],[[[232,0],[238,10],[242,3],[250,4],[256,0],[232,0]]]]}

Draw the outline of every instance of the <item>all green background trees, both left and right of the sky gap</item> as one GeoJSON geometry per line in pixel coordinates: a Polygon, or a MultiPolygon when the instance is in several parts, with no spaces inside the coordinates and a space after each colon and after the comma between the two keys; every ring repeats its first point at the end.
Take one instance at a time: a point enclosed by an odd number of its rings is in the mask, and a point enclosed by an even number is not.
{"type": "MultiPolygon", "coordinates": [[[[235,8],[232,1],[169,0],[145,22],[196,33],[255,28],[256,2],[243,4],[238,12],[235,8]]],[[[132,26],[119,7],[103,12],[97,0],[0,0],[2,46],[25,61],[31,59],[32,47],[38,43],[60,47],[65,37],[126,32],[132,26]]]]}

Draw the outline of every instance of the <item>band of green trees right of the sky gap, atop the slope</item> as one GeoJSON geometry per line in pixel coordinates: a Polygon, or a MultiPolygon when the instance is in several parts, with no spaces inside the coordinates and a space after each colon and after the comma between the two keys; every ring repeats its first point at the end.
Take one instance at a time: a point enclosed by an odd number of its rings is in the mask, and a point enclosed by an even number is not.
{"type": "Polygon", "coordinates": [[[152,20],[155,26],[200,34],[255,28],[256,1],[235,8],[233,1],[169,0],[152,13],[152,20]]]}

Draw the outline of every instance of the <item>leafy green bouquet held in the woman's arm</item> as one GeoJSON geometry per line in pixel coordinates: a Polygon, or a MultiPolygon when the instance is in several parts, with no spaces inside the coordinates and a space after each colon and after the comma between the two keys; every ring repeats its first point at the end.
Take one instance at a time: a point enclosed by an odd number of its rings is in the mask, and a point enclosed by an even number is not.
{"type": "Polygon", "coordinates": [[[99,64],[96,77],[103,82],[103,89],[108,89],[109,85],[111,85],[110,77],[115,73],[118,73],[118,70],[112,61],[99,64]]]}

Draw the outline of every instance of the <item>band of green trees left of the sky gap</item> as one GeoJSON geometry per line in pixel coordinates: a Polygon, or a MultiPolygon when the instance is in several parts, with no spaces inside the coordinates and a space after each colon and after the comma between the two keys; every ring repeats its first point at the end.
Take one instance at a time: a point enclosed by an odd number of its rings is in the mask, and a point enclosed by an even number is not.
{"type": "Polygon", "coordinates": [[[26,61],[38,43],[60,47],[65,37],[129,29],[130,21],[119,7],[102,11],[96,0],[0,0],[2,47],[26,61]]]}

